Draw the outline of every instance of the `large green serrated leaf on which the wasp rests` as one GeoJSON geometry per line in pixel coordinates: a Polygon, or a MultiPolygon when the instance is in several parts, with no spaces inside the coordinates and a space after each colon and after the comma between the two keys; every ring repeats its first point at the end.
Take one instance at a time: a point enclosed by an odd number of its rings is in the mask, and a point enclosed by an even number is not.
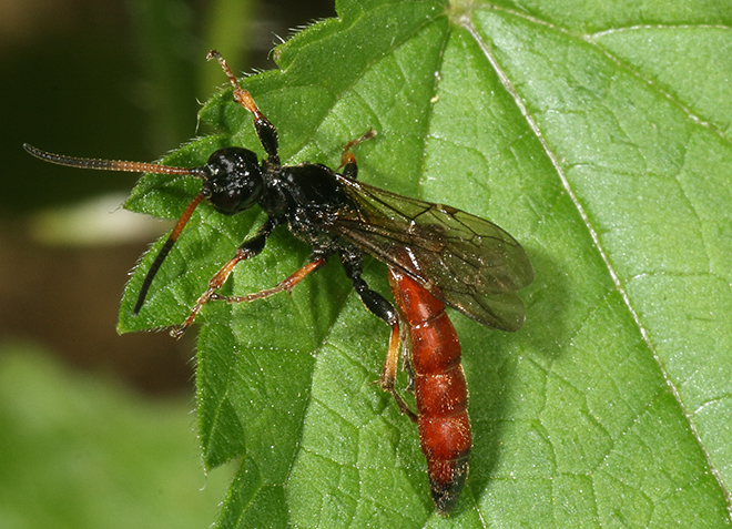
{"type": "MultiPolygon", "coordinates": [[[[220,527],[730,525],[732,482],[732,4],[350,1],[244,82],[287,163],[359,177],[485,216],[527,248],[535,283],[516,334],[456,315],[474,455],[454,515],[429,498],[417,431],[372,383],[388,328],[337,263],[292,296],[211,303],[199,340],[209,466],[241,458],[220,527]]],[[[211,68],[217,68],[211,65],[211,68]]],[[[223,82],[223,78],[222,78],[223,82]]],[[[260,149],[225,90],[201,113],[220,145],[260,149]]],[[[176,217],[191,179],[145,176],[129,206],[176,217]]],[[[181,323],[262,223],[200,207],[120,328],[181,323]]],[[[296,269],[286,231],[226,292],[296,269]]],[[[387,293],[385,267],[366,279],[387,293]]]]}

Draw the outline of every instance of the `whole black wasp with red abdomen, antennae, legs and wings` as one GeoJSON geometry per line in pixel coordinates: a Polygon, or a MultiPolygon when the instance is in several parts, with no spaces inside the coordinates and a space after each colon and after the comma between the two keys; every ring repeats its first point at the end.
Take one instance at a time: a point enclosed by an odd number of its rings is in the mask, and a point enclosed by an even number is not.
{"type": "Polygon", "coordinates": [[[256,134],[266,153],[262,162],[254,152],[234,146],[214,152],[201,167],[79,159],[28,144],[24,147],[41,160],[61,165],[191,175],[202,181],[201,192],[187,205],[150,267],[134,314],[143,306],[156,272],[204,199],[224,215],[255,204],[266,213],[267,221],[211,278],[189,317],[172,332],[174,336],[191,326],[207,302],[251,302],[291,291],[337,254],[368,311],[392,327],[379,385],[394,397],[400,411],[417,423],[433,499],[437,511],[448,515],[467,477],[471,435],[460,344],[445,306],[488,327],[518,330],[523,325],[525,308],[517,291],[533,279],[526,252],[488,221],[356,180],[358,171],[352,149],[374,136],[374,131],[344,146],[340,173],[309,162],[282,165],[274,125],[238,85],[223,58],[211,51],[207,59],[218,61],[234,87],[234,99],[254,116],[256,134]],[[247,296],[218,294],[236,264],[262,252],[267,237],[283,224],[313,248],[307,264],[272,288],[247,296]],[[364,253],[387,265],[396,308],[362,278],[364,253]],[[395,387],[399,358],[409,376],[416,411],[395,387]]]}

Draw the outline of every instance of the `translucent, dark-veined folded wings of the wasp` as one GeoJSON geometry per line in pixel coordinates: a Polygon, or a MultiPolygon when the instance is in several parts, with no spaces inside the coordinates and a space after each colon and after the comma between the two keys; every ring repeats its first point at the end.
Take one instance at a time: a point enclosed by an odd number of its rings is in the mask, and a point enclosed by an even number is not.
{"type": "Polygon", "coordinates": [[[329,230],[419,281],[430,294],[484,325],[518,330],[517,291],[533,279],[529,257],[496,224],[455,207],[401,196],[338,175],[357,205],[329,230]]]}

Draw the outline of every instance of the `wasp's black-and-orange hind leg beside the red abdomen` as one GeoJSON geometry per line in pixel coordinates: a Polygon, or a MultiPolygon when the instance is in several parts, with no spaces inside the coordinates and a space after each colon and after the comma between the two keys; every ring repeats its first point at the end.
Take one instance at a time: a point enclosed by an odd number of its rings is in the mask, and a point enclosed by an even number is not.
{"type": "Polygon", "coordinates": [[[407,403],[404,401],[401,395],[396,390],[396,375],[397,366],[399,365],[399,352],[401,349],[401,333],[399,332],[399,317],[397,312],[379,293],[372,291],[366,282],[362,279],[362,256],[357,251],[344,251],[340,254],[340,262],[346,271],[346,275],[350,278],[354,289],[360,296],[360,299],[373,314],[382,318],[392,326],[392,337],[389,338],[389,348],[386,353],[384,360],[384,369],[378,384],[385,391],[388,391],[394,397],[399,411],[409,417],[413,421],[417,421],[417,416],[409,409],[407,403]]]}

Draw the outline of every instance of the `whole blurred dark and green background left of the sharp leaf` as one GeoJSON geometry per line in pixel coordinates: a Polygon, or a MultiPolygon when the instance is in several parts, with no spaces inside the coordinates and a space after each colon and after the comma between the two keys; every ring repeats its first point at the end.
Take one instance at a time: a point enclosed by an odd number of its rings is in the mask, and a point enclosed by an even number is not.
{"type": "Polygon", "coordinates": [[[118,336],[128,273],[167,228],[121,211],[135,175],[22,150],[152,161],[206,131],[235,71],[272,69],[332,1],[0,2],[0,527],[207,527],[228,469],[195,439],[193,333],[118,336]]]}

